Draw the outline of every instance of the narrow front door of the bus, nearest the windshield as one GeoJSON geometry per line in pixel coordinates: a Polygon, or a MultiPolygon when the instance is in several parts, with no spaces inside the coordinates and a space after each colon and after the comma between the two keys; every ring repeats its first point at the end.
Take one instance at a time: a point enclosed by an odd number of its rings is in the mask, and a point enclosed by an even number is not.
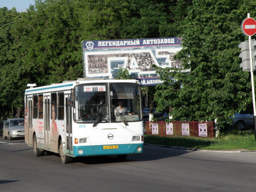
{"type": "Polygon", "coordinates": [[[66,135],[66,154],[73,155],[73,139],[72,139],[72,108],[68,106],[69,95],[65,95],[65,135],[66,135]]]}

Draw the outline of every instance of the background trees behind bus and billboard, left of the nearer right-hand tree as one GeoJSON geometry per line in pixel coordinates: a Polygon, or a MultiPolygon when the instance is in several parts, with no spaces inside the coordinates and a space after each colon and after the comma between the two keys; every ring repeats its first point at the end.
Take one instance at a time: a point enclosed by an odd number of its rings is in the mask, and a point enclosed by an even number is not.
{"type": "Polygon", "coordinates": [[[177,36],[191,1],[35,0],[22,13],[1,8],[1,105],[22,107],[27,83],[82,77],[83,40],[177,36]]]}

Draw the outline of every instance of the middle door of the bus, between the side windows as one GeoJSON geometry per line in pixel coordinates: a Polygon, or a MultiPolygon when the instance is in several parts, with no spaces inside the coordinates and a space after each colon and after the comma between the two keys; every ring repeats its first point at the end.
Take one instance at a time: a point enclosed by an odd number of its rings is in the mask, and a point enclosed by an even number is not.
{"type": "Polygon", "coordinates": [[[45,149],[51,150],[50,142],[50,96],[45,96],[44,102],[44,128],[45,128],[45,149]]]}

